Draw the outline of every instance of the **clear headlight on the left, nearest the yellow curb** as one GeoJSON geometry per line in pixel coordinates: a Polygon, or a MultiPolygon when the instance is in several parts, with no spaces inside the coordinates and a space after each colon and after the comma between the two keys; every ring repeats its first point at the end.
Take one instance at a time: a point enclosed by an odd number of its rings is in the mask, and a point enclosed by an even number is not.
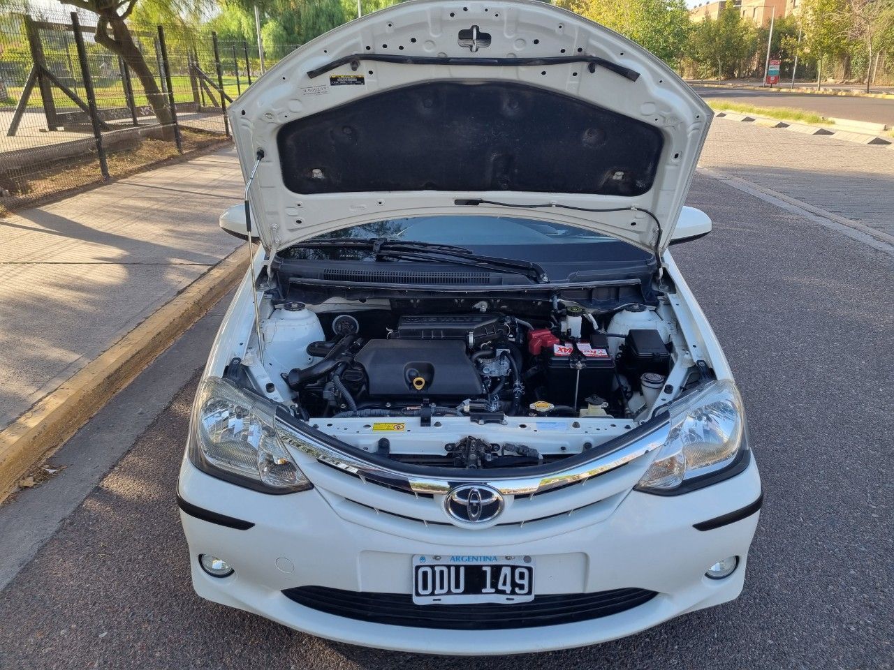
{"type": "Polygon", "coordinates": [[[190,460],[200,470],[266,493],[311,488],[276,433],[274,406],[208,377],[196,397],[190,460]]]}

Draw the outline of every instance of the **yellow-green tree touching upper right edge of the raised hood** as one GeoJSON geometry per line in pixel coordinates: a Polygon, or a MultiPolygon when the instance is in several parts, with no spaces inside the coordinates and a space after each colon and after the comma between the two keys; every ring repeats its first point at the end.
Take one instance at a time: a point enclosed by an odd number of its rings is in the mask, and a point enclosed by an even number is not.
{"type": "Polygon", "coordinates": [[[691,24],[686,0],[556,0],[569,9],[619,32],[676,65],[685,54],[691,24]]]}

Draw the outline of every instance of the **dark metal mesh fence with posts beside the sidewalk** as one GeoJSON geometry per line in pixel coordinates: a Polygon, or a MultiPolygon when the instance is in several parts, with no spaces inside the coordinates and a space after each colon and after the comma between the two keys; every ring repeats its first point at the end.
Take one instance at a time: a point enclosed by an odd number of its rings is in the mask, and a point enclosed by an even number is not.
{"type": "Polygon", "coordinates": [[[225,110],[260,74],[246,41],[131,28],[122,50],[90,16],[0,15],[0,208],[225,141],[225,110]]]}

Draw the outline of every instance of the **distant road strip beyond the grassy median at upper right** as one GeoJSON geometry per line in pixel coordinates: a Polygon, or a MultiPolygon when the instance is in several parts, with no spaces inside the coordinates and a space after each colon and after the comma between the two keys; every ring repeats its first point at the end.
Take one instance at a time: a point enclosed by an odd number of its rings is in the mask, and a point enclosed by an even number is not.
{"type": "Polygon", "coordinates": [[[894,100],[877,97],[827,96],[809,93],[774,93],[745,88],[694,86],[702,97],[713,97],[759,107],[794,107],[823,116],[853,121],[872,121],[894,127],[894,100]]]}

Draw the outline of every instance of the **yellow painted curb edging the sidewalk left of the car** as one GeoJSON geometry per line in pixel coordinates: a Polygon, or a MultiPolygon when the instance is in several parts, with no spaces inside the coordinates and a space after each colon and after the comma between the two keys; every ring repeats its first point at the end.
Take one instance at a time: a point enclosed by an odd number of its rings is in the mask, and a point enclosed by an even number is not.
{"type": "Polygon", "coordinates": [[[0,431],[0,502],[215,306],[245,271],[245,249],[239,248],[0,431]]]}

